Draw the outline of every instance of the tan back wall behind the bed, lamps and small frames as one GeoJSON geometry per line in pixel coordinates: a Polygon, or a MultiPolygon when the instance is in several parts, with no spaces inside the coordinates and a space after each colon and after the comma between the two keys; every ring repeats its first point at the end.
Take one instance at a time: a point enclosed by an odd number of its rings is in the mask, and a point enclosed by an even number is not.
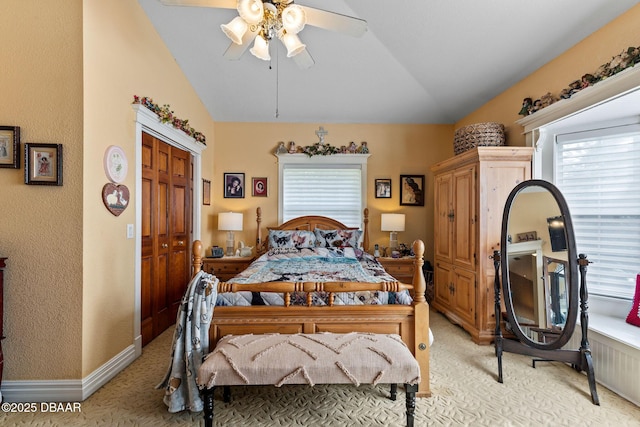
{"type": "MultiPolygon", "coordinates": [[[[278,218],[278,164],[273,155],[279,141],[294,141],[298,146],[318,141],[315,131],[324,126],[329,132],[326,142],[334,146],[360,145],[367,141],[371,156],[368,161],[367,207],[371,246],[378,243],[388,246],[389,233],[380,231],[380,213],[406,214],[406,230],[399,233],[400,242],[411,244],[415,239],[427,243],[425,258],[433,259],[433,180],[429,167],[453,155],[452,128],[450,125],[373,125],[373,124],[296,124],[296,123],[216,123],[215,174],[211,177],[214,212],[204,222],[213,230],[213,240],[208,246],[224,246],[226,233],[217,231],[218,212],[244,213],[244,230],[236,234],[237,240],[248,245],[255,242],[255,210],[262,208],[264,227],[277,224],[278,218]],[[245,179],[266,176],[269,178],[269,197],[252,197],[250,185],[246,185],[244,199],[223,197],[224,172],[244,172],[245,179]],[[424,207],[400,206],[399,185],[401,174],[425,175],[426,202],[424,207]],[[374,180],[391,178],[392,198],[376,199],[374,180]]],[[[347,156],[347,155],[344,155],[347,156]]]]}

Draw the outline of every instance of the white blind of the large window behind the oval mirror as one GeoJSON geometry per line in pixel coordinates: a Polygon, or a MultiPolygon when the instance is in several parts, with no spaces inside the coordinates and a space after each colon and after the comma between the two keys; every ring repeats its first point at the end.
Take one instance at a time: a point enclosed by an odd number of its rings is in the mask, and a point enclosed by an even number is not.
{"type": "Polygon", "coordinates": [[[587,255],[589,293],[631,299],[640,273],[640,126],[557,135],[556,185],[587,255]]]}

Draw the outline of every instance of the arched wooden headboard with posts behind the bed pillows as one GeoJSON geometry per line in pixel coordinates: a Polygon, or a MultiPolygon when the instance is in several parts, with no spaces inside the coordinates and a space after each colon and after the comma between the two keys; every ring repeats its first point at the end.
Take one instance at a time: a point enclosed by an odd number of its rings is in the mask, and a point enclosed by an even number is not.
{"type": "MultiPolygon", "coordinates": [[[[256,250],[258,253],[266,252],[267,245],[269,244],[268,240],[262,239],[262,228],[260,227],[260,223],[262,222],[262,209],[256,209],[256,223],[258,224],[258,231],[256,235],[256,250]]],[[[364,230],[362,230],[362,249],[365,251],[369,250],[369,208],[364,209],[363,215],[363,223],[364,230]]],[[[290,219],[289,221],[277,226],[277,227],[267,227],[267,230],[308,230],[313,231],[316,228],[320,228],[322,230],[358,230],[358,227],[347,227],[340,221],[336,221],[335,219],[319,216],[319,215],[308,215],[301,216],[298,218],[290,219]]]]}

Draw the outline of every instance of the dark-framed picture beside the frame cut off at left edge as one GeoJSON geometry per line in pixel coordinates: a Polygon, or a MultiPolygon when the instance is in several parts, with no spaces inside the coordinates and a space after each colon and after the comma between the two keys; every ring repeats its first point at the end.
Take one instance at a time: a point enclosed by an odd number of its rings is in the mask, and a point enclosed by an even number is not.
{"type": "Polygon", "coordinates": [[[24,183],[62,185],[62,144],[24,144],[24,183]]]}

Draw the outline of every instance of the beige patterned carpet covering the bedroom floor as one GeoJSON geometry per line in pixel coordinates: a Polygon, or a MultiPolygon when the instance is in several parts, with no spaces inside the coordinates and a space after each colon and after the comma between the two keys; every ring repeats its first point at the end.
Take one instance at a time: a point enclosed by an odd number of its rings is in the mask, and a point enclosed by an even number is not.
{"type": "MultiPolygon", "coordinates": [[[[640,407],[598,386],[591,404],[586,377],[557,362],[531,367],[525,356],[505,354],[505,383],[496,381],[492,346],[477,346],[457,326],[431,315],[433,397],[418,399],[417,426],[640,426],[640,407]]],[[[82,402],[81,413],[0,414],[2,426],[202,425],[201,414],[169,414],[163,378],[169,330],[142,357],[82,402]]],[[[597,377],[596,372],[596,377],[597,377]]],[[[639,379],[640,380],[640,379],[639,379]]],[[[404,393],[395,402],[388,386],[285,386],[233,388],[229,405],[216,397],[219,426],[403,426],[404,393]]]]}

